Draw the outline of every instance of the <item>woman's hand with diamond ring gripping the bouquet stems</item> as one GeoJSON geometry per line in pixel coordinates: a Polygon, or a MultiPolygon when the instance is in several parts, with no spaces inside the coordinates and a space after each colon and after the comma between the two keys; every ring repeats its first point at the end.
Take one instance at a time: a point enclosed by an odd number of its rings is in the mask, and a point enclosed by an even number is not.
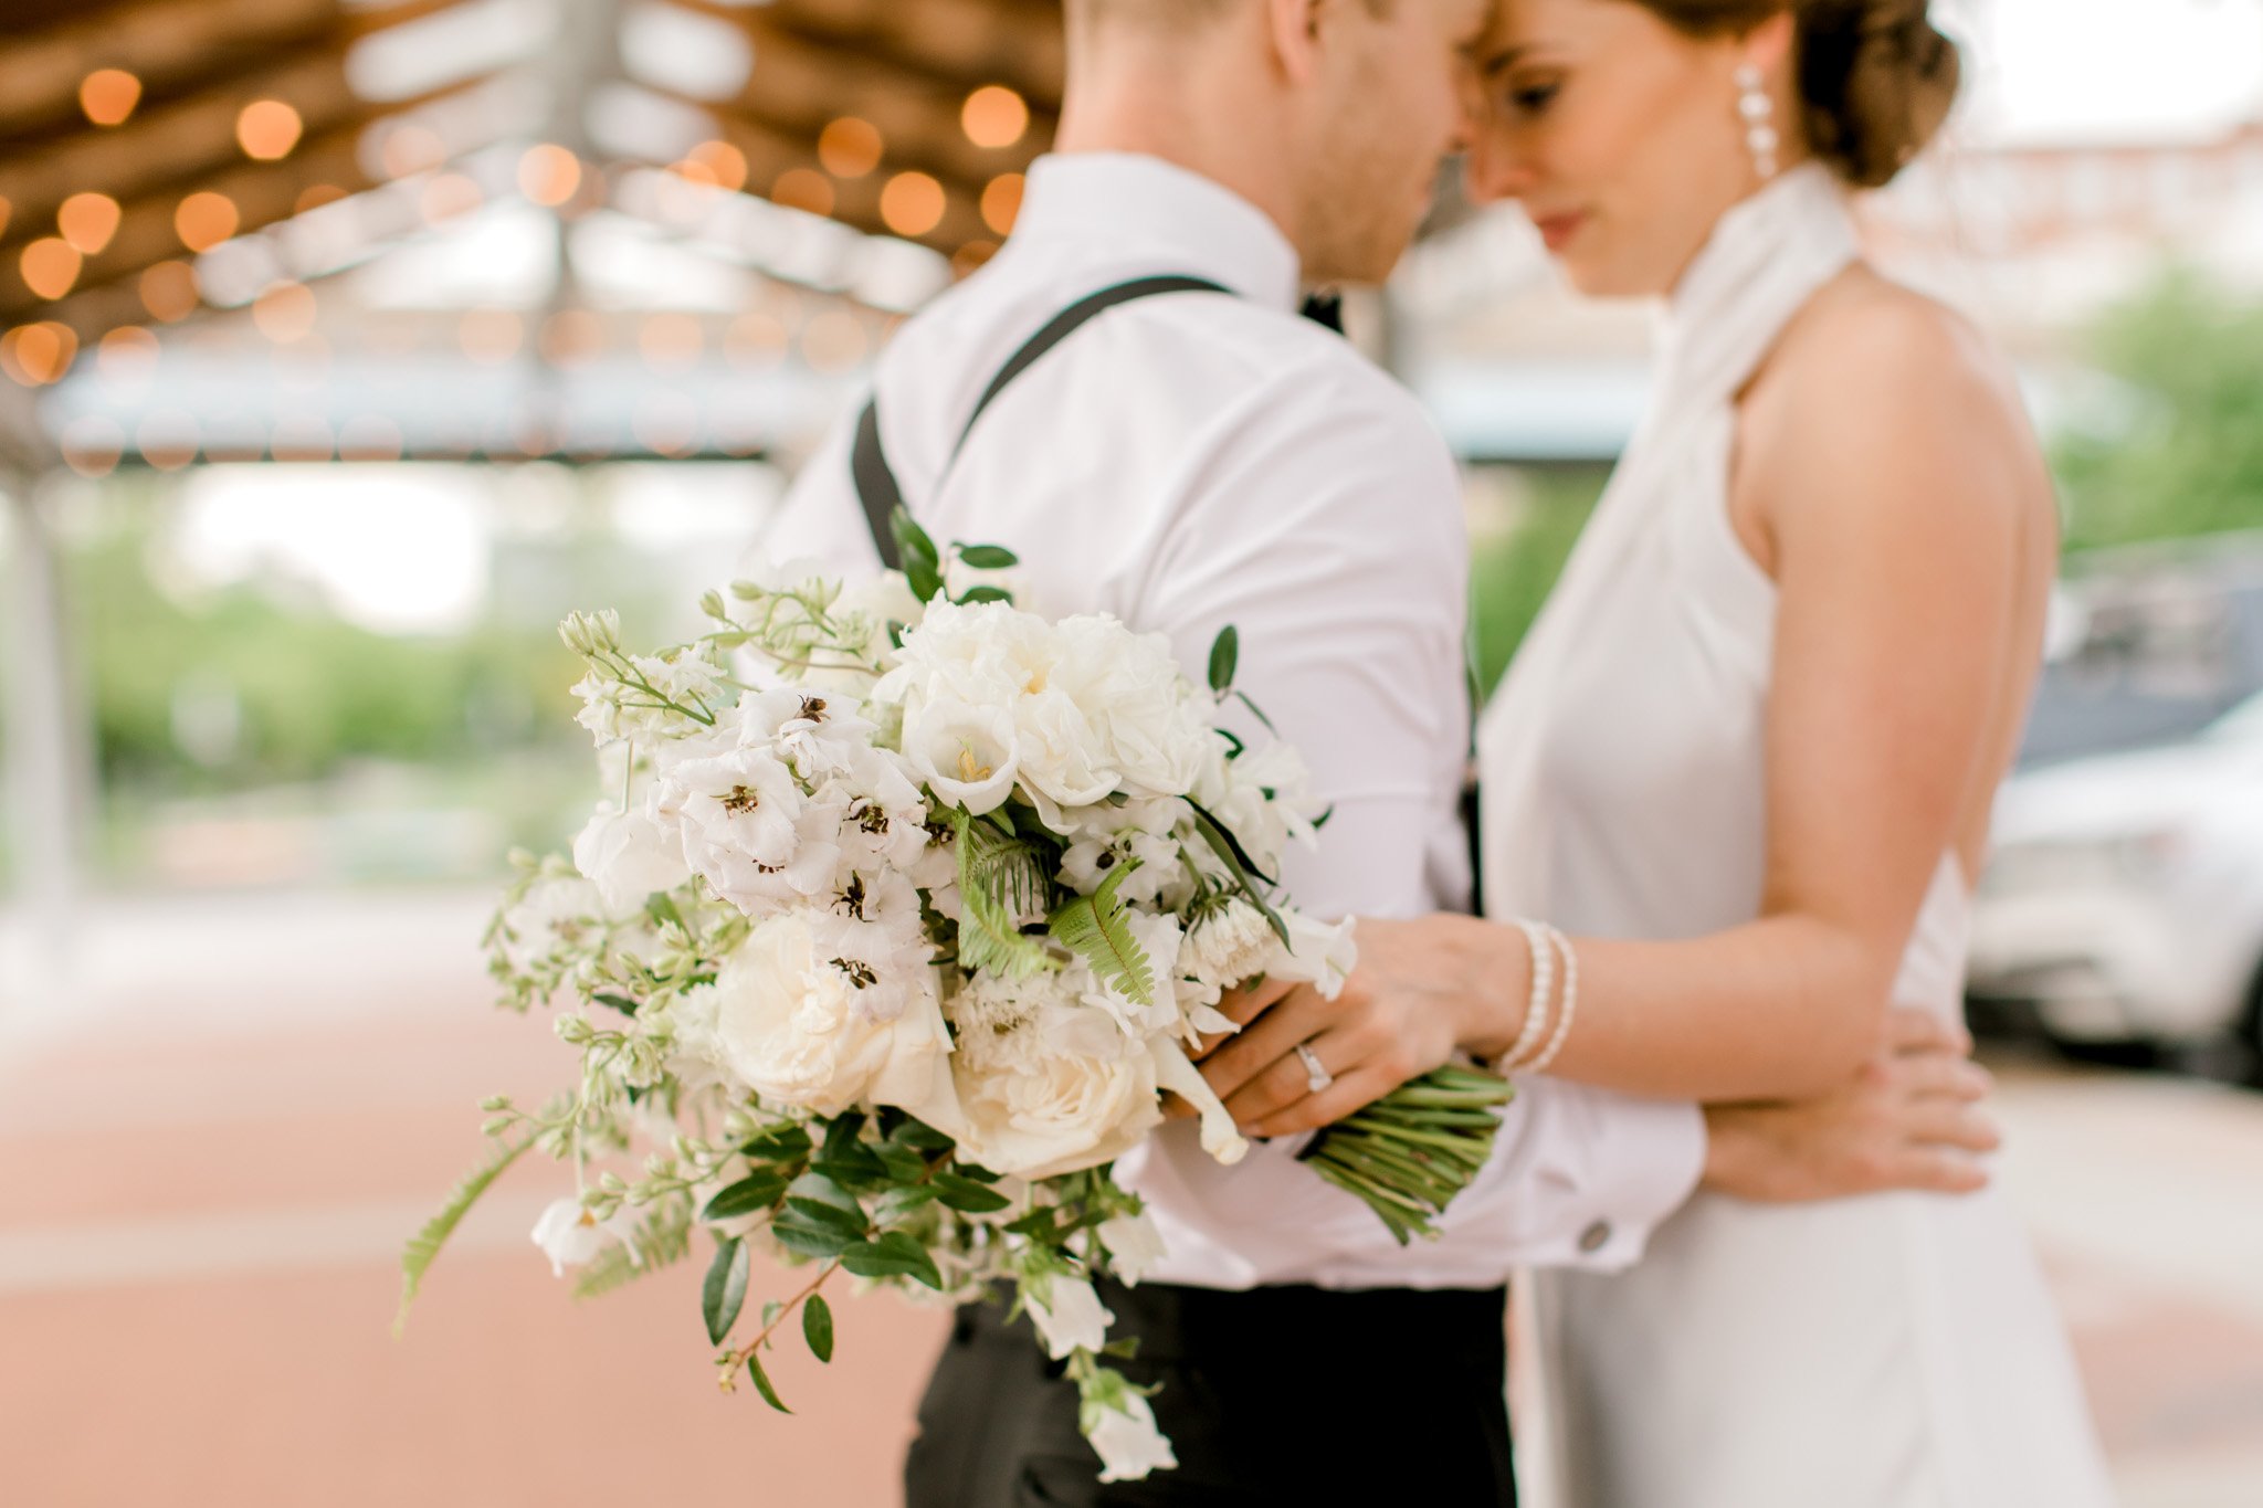
{"type": "Polygon", "coordinates": [[[1335,999],[1288,983],[1227,995],[1220,1008],[1242,1031],[1208,1042],[1197,1060],[1233,1124],[1258,1137],[1317,1130],[1444,1067],[1478,993],[1471,927],[1482,922],[1362,918],[1360,965],[1335,999]],[[1299,1045],[1333,1081],[1326,1090],[1313,1090],[1299,1045]]]}

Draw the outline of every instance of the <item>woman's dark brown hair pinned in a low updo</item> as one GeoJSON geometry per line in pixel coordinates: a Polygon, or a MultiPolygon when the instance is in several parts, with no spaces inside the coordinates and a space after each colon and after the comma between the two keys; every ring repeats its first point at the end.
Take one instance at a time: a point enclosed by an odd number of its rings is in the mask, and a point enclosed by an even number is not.
{"type": "Polygon", "coordinates": [[[1962,68],[1928,0],[1634,0],[1688,36],[1743,34],[1790,11],[1808,149],[1883,188],[1948,120],[1962,68]]]}

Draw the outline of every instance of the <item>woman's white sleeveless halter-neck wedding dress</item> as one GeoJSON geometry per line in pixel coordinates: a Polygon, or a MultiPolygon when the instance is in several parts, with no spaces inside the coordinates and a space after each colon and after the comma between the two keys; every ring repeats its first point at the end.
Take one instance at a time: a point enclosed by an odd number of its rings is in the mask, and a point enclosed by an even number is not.
{"type": "MultiPolygon", "coordinates": [[[[1729,520],[1736,396],[1856,255],[1842,192],[1806,165],[1727,215],[1675,294],[1652,411],[1487,712],[1498,916],[1616,938],[1758,916],[1776,588],[1729,520]]],[[[1896,999],[1962,1008],[1969,920],[1944,855],[1896,999]]],[[[1541,1508],[2111,1501],[2000,1191],[1700,1194],[1632,1273],[1530,1291],[1546,1418],[1518,1420],[1518,1451],[1541,1508]]]]}

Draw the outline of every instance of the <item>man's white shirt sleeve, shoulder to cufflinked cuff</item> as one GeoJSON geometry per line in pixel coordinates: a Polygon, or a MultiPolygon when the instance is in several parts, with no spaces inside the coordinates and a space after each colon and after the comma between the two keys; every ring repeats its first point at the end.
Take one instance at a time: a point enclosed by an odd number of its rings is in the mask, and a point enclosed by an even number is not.
{"type": "MultiPolygon", "coordinates": [[[[1136,619],[1170,633],[1186,665],[1204,662],[1227,624],[1240,633],[1238,685],[1333,803],[1319,848],[1283,861],[1303,911],[1466,909],[1455,803],[1469,751],[1469,540],[1451,450],[1405,389],[1344,362],[1267,384],[1215,430],[1136,619]]],[[[1242,721],[1238,735],[1270,737],[1242,721]]],[[[1236,1230],[1231,1250],[1195,1253],[1195,1232],[1161,1212],[1186,1257],[1172,1280],[1480,1286],[1518,1266],[1629,1266],[1702,1160],[1695,1106],[1539,1078],[1518,1085],[1491,1162],[1435,1243],[1396,1248],[1365,1205],[1310,1176],[1258,1198],[1206,1160],[1150,1176],[1174,1185],[1170,1207],[1208,1210],[1204,1237],[1236,1230]]]]}

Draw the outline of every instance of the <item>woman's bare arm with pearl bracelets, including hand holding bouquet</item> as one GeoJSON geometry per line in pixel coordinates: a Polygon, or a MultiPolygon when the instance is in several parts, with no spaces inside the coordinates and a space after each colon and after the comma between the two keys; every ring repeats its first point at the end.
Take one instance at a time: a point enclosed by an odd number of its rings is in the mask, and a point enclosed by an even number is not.
{"type": "MultiPolygon", "coordinates": [[[[1763,500],[1781,583],[1761,920],[1679,943],[1577,938],[1557,1076],[1700,1101],[1842,1085],[1878,1056],[1928,884],[1996,778],[1989,730],[2032,642],[2016,586],[2050,547],[2032,441],[1946,319],[1856,314],[1874,328],[1835,344],[1867,359],[1786,371],[1795,423],[1745,436],[1738,486],[1763,500]]],[[[1285,999],[1211,1056],[1242,1124],[1279,1135],[1356,1108],[1306,1097],[1294,1058],[1274,1067],[1319,1013],[1396,1017],[1410,1035],[1444,1015],[1478,1056],[1516,1042],[1530,981],[1516,927],[1362,922],[1360,950],[1344,999],[1285,999]]]]}

